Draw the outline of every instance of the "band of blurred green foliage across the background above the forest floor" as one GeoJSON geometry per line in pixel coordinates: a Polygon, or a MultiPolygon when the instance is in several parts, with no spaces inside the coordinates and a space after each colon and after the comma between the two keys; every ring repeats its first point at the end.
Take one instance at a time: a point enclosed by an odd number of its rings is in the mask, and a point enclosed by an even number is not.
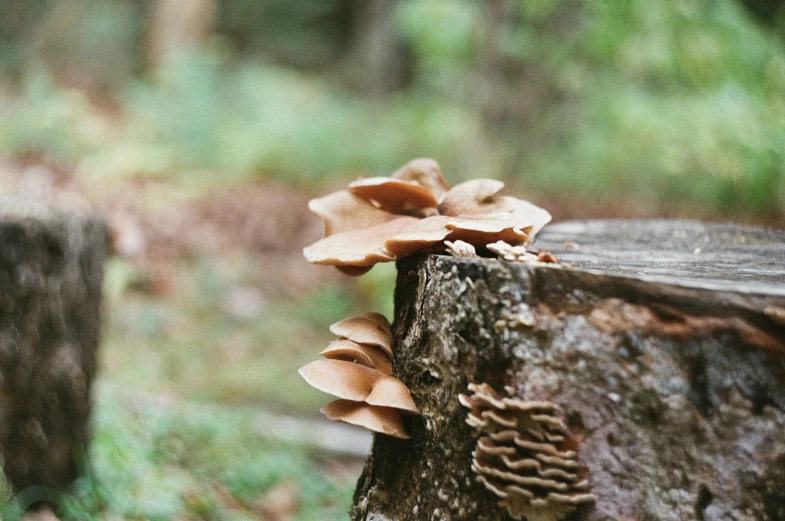
{"type": "MultiPolygon", "coordinates": [[[[748,213],[785,205],[785,46],[735,0],[510,0],[498,11],[405,0],[394,22],[412,82],[384,100],[341,87],[346,2],[226,0],[220,34],[154,78],[131,76],[137,4],[74,0],[70,18],[58,5],[18,14],[46,38],[16,62],[19,88],[0,94],[0,147],[75,163],[88,180],[317,183],[426,155],[451,182],[501,176],[748,213]],[[106,72],[122,125],[42,63],[106,72]]],[[[0,27],[4,45],[21,38],[12,29],[0,27]]]]}

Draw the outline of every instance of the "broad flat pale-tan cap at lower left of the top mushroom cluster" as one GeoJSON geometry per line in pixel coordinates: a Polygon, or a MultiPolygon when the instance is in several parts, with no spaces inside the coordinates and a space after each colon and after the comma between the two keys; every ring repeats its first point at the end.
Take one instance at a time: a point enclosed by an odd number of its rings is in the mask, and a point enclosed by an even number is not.
{"type": "Polygon", "coordinates": [[[336,233],[303,249],[313,264],[334,266],[373,266],[377,262],[396,260],[384,249],[384,242],[420,219],[396,216],[394,220],[358,230],[336,233]]]}

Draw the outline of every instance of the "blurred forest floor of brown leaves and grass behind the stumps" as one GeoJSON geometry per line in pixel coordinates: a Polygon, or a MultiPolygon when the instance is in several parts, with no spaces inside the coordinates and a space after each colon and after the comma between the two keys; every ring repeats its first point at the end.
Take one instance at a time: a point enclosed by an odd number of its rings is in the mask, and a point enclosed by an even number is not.
{"type": "MultiPolygon", "coordinates": [[[[90,207],[110,226],[90,466],[73,494],[57,497],[60,519],[345,519],[362,458],[308,442],[328,398],[297,368],[330,341],[330,323],[369,309],[390,316],[395,270],[354,279],[305,262],[302,248],[321,234],[307,211],[313,188],[265,179],[88,183],[28,160],[0,162],[4,193],[90,207]],[[281,413],[306,432],[260,427],[281,413]]],[[[761,222],[636,201],[532,200],[556,220],[761,222]]],[[[18,517],[36,494],[23,491],[0,517],[18,517]]]]}

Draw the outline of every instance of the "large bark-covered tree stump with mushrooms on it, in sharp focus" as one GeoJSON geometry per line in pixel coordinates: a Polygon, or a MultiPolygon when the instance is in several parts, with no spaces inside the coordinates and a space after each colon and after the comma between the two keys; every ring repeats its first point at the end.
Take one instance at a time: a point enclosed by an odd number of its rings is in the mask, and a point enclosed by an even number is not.
{"type": "Polygon", "coordinates": [[[458,395],[486,383],[564,412],[595,497],[564,519],[785,520],[785,234],[565,222],[535,247],[562,262],[400,262],[394,373],[422,416],[376,437],[352,519],[512,518],[471,468],[458,395]]]}

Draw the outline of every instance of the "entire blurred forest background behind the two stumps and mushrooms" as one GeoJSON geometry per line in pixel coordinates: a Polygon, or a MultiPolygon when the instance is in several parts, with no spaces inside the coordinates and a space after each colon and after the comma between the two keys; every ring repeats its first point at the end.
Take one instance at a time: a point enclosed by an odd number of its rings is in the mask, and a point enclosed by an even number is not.
{"type": "Polygon", "coordinates": [[[362,458],[296,369],[395,269],[308,265],[306,204],[419,156],[556,220],[782,227],[785,0],[0,0],[0,193],[115,249],[61,519],[346,519],[362,458]]]}

